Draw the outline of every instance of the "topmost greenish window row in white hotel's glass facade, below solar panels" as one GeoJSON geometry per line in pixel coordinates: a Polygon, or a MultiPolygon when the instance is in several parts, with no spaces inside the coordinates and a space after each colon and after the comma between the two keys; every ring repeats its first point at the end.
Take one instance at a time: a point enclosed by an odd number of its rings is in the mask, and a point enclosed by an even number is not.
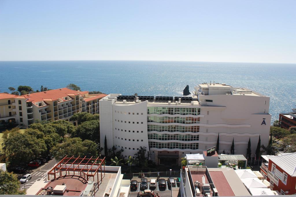
{"type": "Polygon", "coordinates": [[[171,108],[171,107],[147,107],[148,114],[182,114],[200,115],[200,108],[171,108]]]}

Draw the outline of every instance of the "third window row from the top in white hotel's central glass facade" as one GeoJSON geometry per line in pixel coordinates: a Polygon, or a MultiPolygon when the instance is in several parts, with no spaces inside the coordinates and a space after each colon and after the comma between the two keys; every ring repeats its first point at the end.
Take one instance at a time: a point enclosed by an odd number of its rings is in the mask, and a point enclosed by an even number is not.
{"type": "Polygon", "coordinates": [[[168,132],[192,132],[197,133],[200,131],[199,126],[176,126],[176,125],[169,125],[169,126],[159,126],[159,125],[147,125],[147,131],[168,131],[168,132]]]}

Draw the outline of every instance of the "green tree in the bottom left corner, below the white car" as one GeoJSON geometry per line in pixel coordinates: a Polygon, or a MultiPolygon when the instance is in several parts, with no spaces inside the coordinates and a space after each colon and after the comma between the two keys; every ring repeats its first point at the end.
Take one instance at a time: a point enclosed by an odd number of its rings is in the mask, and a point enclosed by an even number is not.
{"type": "Polygon", "coordinates": [[[0,195],[25,195],[26,191],[20,191],[19,188],[17,175],[0,168],[0,195]]]}

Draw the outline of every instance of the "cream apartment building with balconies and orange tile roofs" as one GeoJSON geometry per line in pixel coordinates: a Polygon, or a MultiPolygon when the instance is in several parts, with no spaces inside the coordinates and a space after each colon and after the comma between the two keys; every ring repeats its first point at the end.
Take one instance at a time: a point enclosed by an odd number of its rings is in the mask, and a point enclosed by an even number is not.
{"type": "MultiPolygon", "coordinates": [[[[2,97],[9,97],[8,95],[10,94],[2,97]]],[[[105,94],[89,95],[88,91],[60,88],[20,96],[10,95],[11,98],[7,99],[0,97],[0,103],[3,100],[3,104],[7,102],[8,105],[8,100],[10,100],[11,107],[7,108],[5,114],[8,112],[11,117],[7,118],[20,126],[28,127],[35,120],[69,121],[74,113],[98,114],[99,100],[105,96],[105,94]],[[11,114],[9,111],[11,111],[11,114]]],[[[5,120],[7,122],[8,119],[5,120]]]]}

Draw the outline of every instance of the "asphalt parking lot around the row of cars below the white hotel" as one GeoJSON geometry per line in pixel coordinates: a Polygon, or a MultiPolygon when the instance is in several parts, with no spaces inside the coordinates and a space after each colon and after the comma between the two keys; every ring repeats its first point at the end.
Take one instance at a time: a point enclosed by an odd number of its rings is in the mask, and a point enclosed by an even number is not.
{"type": "MultiPolygon", "coordinates": [[[[171,188],[168,187],[168,180],[165,180],[165,188],[159,188],[158,182],[156,183],[156,187],[150,187],[150,181],[148,180],[148,190],[154,191],[154,194],[158,193],[159,196],[161,197],[171,197],[172,196],[172,191],[171,188]]],[[[176,182],[175,180],[175,187],[177,188],[179,186],[179,183],[176,182]]],[[[140,182],[138,182],[137,188],[132,189],[131,188],[131,197],[136,197],[138,196],[139,191],[143,191],[143,189],[140,189],[140,182]]]]}

